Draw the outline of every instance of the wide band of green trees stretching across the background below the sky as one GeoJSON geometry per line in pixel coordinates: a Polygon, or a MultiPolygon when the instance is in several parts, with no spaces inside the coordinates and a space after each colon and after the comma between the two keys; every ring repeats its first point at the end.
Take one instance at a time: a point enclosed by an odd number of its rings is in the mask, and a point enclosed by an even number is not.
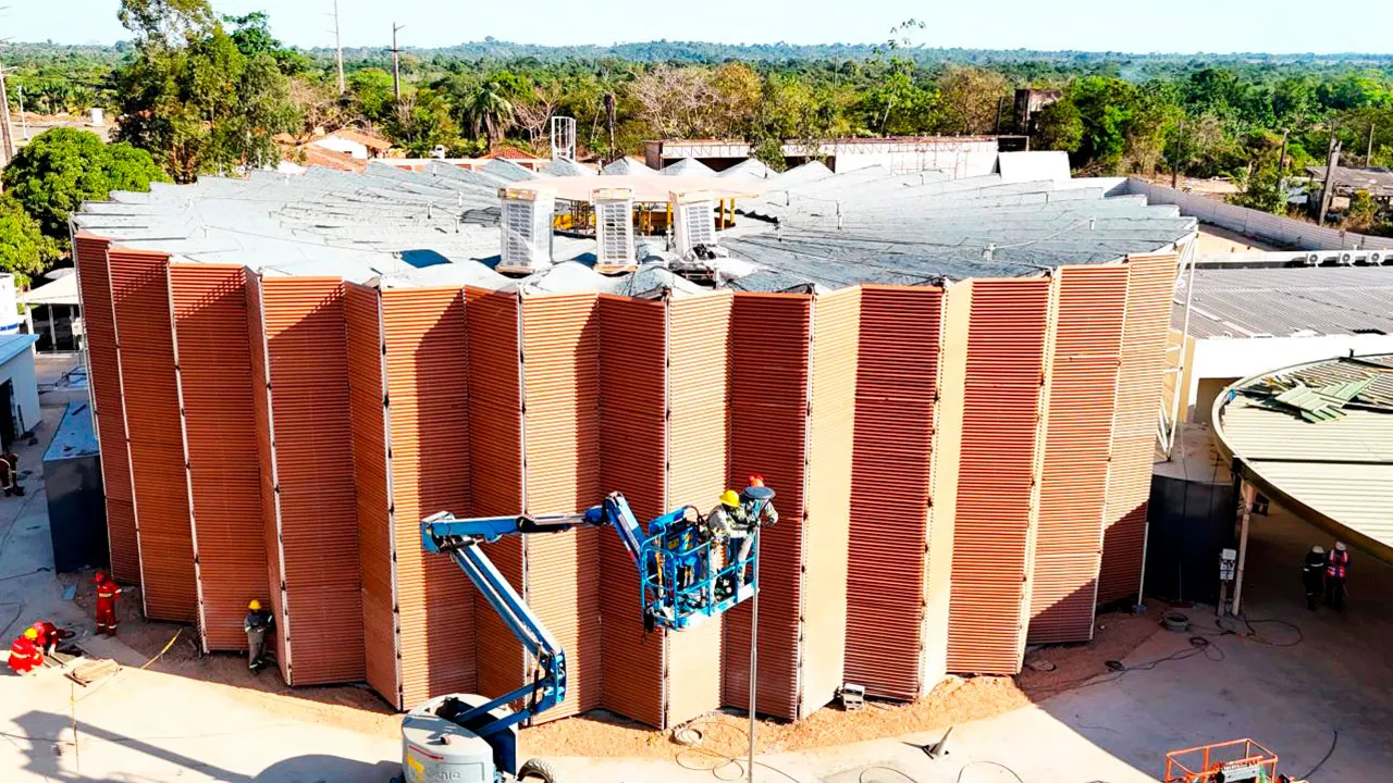
{"type": "MultiPolygon", "coordinates": [[[[1081,174],[1231,177],[1234,201],[1282,213],[1284,183],[1323,162],[1332,135],[1347,163],[1393,164],[1386,56],[942,50],[917,46],[924,24],[911,20],[876,46],[547,49],[488,39],[403,53],[398,96],[384,50],[347,50],[340,92],[334,53],[283,45],[265,13],[123,0],[120,21],[131,40],[111,47],[7,52],[13,104],[22,89],[31,110],[100,106],[116,121],[106,153],[114,163],[93,162],[102,153],[64,134],[31,145],[6,171],[0,224],[22,222],[17,213],[33,224],[6,231],[20,238],[0,240],[0,254],[45,259],[20,265],[26,270],[63,252],[65,210],[104,198],[103,188],[274,166],[280,134],[302,142],[343,127],[379,132],[411,156],[500,145],[540,155],[549,120],[567,116],[586,156],[638,153],[649,138],[738,138],[780,167],[784,141],[1013,132],[1014,91],[1034,88],[1060,98],[1024,128],[1032,148],[1067,152],[1081,174]],[[74,160],[102,174],[72,176],[74,160]]],[[[1360,206],[1348,217],[1380,230],[1379,210],[1360,206]]]]}

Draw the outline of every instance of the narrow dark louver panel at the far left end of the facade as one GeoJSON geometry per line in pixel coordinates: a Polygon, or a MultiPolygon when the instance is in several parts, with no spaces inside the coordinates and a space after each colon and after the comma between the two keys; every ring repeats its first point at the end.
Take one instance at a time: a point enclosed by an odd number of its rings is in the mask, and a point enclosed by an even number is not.
{"type": "Polygon", "coordinates": [[[111,575],[121,584],[141,582],[141,555],[135,543],[135,495],[125,447],[125,401],[121,364],[116,355],[116,309],[107,269],[107,241],[78,234],[74,240],[78,291],[86,332],[88,372],[96,432],[102,444],[102,488],[106,493],[106,535],[111,575]]]}

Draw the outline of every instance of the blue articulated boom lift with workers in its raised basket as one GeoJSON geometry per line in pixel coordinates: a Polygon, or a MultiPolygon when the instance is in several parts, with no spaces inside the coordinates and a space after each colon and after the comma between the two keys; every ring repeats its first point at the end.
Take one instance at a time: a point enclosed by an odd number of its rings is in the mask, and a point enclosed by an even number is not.
{"type": "Polygon", "coordinates": [[[638,570],[644,621],[649,630],[681,631],[715,617],[755,595],[752,564],[759,553],[758,528],[775,497],[755,482],[741,493],[741,504],[756,524],[749,553],[740,557],[740,539],[724,541],[724,564],[716,564],[713,548],[723,542],[705,532],[703,518],[683,506],[639,527],[618,492],[579,514],[521,514],[460,520],[449,511],[421,522],[426,552],[449,555],[479,594],[499,613],[513,635],[536,660],[532,681],[490,699],[478,694],[436,697],[407,713],[401,724],[403,772],[407,783],[451,780],[456,783],[504,783],[527,776],[554,782],[546,765],[517,765],[518,723],[566,699],[566,651],[542,626],[513,585],[479,548],[506,535],[564,532],[577,527],[612,525],[638,570]],[[508,705],[521,702],[521,709],[508,705]]]}

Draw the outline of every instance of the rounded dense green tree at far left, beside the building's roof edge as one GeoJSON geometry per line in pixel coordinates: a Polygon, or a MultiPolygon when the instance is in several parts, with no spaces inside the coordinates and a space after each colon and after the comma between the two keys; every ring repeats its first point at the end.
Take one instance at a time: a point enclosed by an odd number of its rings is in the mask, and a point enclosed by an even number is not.
{"type": "Polygon", "coordinates": [[[143,149],[103,144],[91,131],[53,128],[25,145],[3,174],[4,188],[61,247],[68,216],[111,191],[148,191],[169,177],[143,149]]]}

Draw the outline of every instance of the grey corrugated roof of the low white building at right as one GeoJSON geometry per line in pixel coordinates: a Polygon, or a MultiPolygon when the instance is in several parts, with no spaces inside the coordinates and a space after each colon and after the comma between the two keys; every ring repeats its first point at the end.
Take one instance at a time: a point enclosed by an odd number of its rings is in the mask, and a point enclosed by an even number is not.
{"type": "MultiPolygon", "coordinates": [[[[1393,268],[1197,269],[1194,280],[1190,334],[1195,337],[1393,334],[1393,268]]],[[[1181,329],[1184,322],[1181,287],[1170,326],[1181,329]]]]}

